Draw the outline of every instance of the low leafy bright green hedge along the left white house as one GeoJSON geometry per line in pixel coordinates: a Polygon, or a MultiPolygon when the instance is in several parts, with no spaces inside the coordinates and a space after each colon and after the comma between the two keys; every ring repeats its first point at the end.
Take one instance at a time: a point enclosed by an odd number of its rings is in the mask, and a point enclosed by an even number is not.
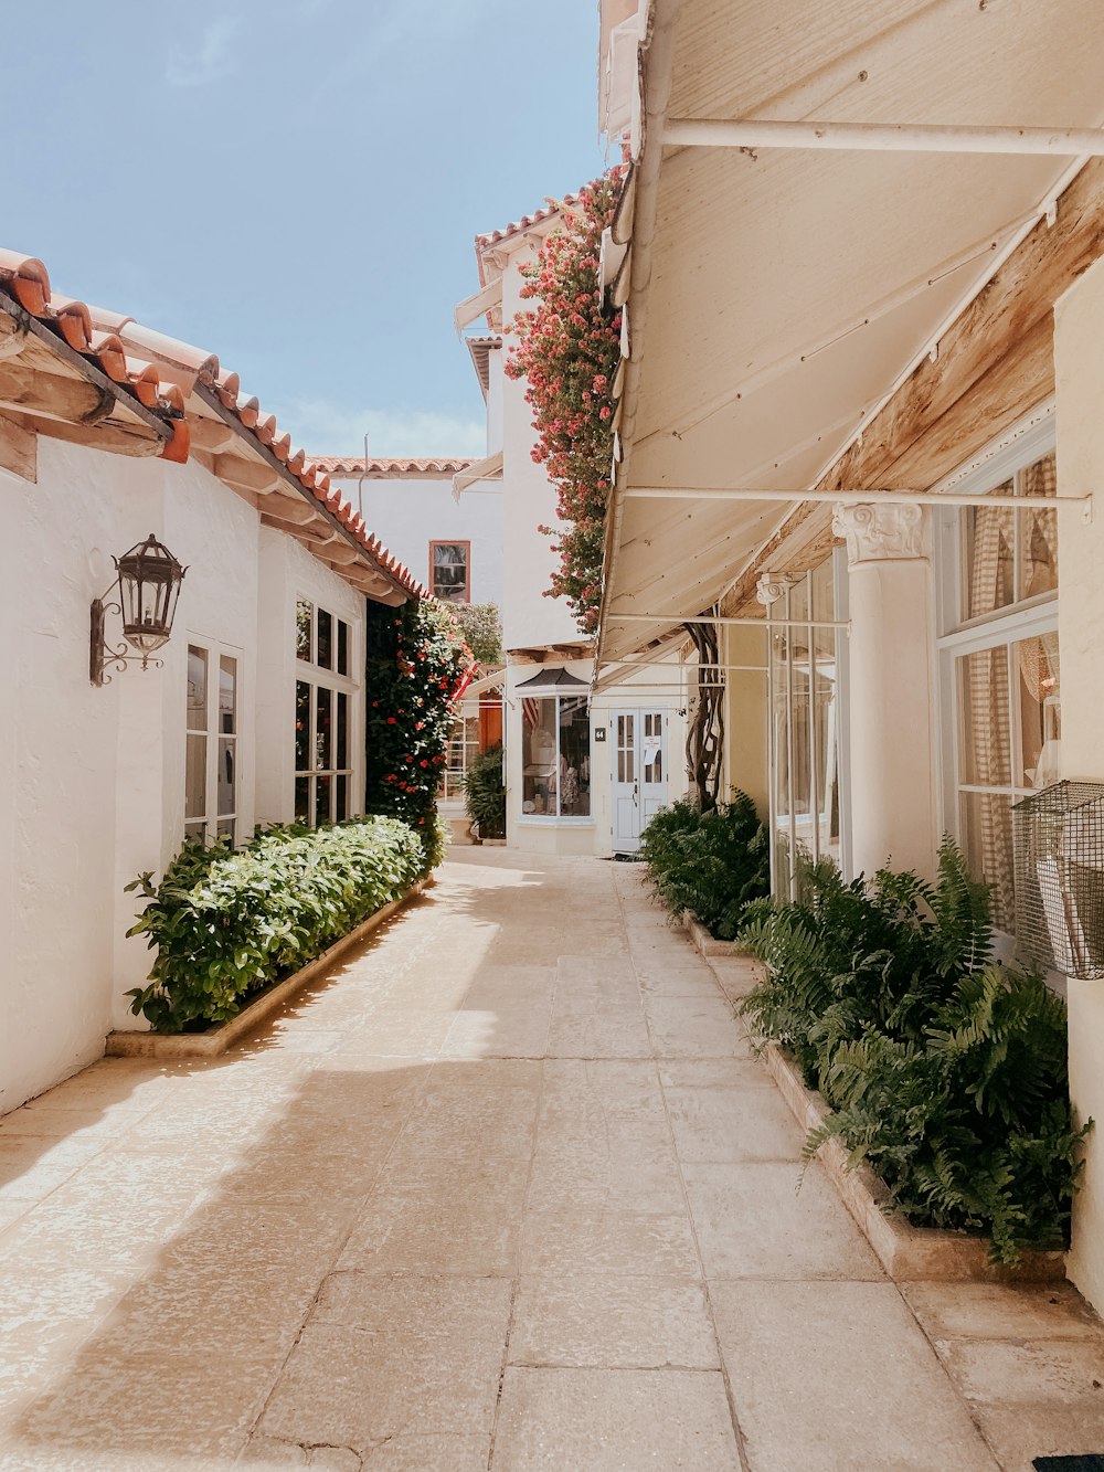
{"type": "MultiPolygon", "coordinates": [[[[436,839],[436,842],[434,842],[436,839]]],[[[234,1017],[243,999],[297,972],[362,920],[403,895],[440,857],[397,818],[271,827],[252,843],[188,842],[159,885],[127,886],[149,901],[128,935],[158,958],[149,985],[127,992],[156,1032],[234,1017]]]]}

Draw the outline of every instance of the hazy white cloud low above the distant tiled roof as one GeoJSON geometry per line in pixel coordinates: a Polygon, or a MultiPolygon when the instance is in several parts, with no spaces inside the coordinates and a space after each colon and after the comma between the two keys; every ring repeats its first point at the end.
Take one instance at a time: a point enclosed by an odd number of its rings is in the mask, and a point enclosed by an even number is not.
{"type": "Polygon", "coordinates": [[[484,421],[433,409],[355,409],[322,399],[291,399],[275,406],[280,427],[308,455],[483,455],[484,421]]]}

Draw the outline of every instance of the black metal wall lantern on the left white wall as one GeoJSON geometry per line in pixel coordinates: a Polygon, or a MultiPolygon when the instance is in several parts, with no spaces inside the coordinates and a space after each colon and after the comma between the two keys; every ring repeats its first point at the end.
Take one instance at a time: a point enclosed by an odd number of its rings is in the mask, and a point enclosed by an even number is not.
{"type": "MultiPolygon", "coordinates": [[[[118,576],[112,586],[103,598],[93,599],[88,665],[93,684],[110,683],[110,676],[105,673],[109,664],[125,670],[140,658],[143,670],[149,668],[150,655],[160,649],[172,633],[180,584],[187,573],[152,531],[144,542],[116,556],[115,567],[118,576]],[[118,649],[105,639],[109,611],[122,615],[122,634],[127,643],[118,649]],[[135,654],[127,654],[127,645],[135,654]]],[[[153,662],[159,665],[160,659],[153,662]]]]}

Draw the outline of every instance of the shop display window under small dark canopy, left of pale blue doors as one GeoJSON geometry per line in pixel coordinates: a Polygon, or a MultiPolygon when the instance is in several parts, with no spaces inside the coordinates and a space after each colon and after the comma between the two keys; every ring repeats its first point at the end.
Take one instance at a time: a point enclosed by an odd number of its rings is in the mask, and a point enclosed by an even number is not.
{"type": "Polygon", "coordinates": [[[530,695],[521,702],[521,813],[590,817],[590,710],[586,695],[530,695]]]}

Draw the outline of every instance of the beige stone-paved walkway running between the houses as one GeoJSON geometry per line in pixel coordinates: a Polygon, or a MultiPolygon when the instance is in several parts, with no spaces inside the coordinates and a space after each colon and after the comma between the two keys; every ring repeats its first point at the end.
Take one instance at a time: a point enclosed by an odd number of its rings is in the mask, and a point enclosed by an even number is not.
{"type": "Polygon", "coordinates": [[[889,1282],[633,866],[458,852],[219,1063],[0,1123],[0,1468],[994,1472],[1070,1289],[889,1282]]]}

